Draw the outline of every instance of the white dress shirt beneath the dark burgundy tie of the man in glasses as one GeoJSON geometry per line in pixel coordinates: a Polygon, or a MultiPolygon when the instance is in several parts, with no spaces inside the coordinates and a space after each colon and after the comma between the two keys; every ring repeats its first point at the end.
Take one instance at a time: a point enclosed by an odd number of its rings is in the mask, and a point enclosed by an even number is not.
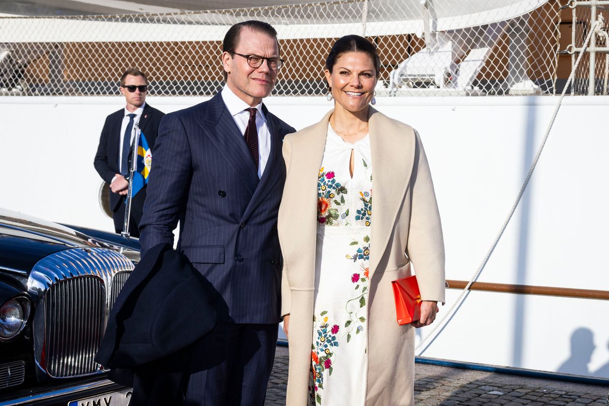
{"type": "MultiPolygon", "coordinates": [[[[228,113],[233,116],[234,122],[241,130],[241,135],[245,136],[245,128],[247,128],[247,122],[250,119],[250,112],[246,111],[246,108],[250,108],[250,105],[245,103],[243,100],[233,93],[228,87],[224,86],[222,89],[222,100],[228,109],[228,113]]],[[[270,155],[270,131],[269,126],[266,122],[266,117],[262,113],[262,102],[259,105],[254,106],[256,108],[256,130],[258,130],[258,178],[262,178],[264,168],[266,167],[267,161],[269,161],[270,155]]]]}

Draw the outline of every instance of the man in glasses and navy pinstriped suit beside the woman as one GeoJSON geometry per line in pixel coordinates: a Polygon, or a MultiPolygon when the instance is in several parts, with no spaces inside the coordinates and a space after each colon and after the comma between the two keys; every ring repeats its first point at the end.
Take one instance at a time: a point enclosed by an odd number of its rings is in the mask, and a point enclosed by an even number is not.
{"type": "Polygon", "coordinates": [[[281,142],[294,132],[262,104],[283,63],[276,35],[260,21],[231,27],[226,86],[167,114],[153,151],[143,253],[172,243],[179,220],[178,250],[213,285],[217,310],[216,327],[185,365],[188,405],[262,406],[266,396],[280,321],[281,142]]]}

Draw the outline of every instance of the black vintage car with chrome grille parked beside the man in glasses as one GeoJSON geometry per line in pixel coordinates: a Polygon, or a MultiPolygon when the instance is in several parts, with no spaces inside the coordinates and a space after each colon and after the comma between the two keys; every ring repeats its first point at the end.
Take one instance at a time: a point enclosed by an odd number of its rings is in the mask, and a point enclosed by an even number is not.
{"type": "Polygon", "coordinates": [[[139,242],[0,209],[0,406],[120,406],[94,356],[139,242]]]}

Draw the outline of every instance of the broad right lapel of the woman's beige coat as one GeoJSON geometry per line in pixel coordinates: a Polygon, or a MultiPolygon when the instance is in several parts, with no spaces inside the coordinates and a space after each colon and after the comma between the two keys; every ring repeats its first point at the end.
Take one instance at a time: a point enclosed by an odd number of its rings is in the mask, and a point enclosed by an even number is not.
{"type": "Polygon", "coordinates": [[[370,107],[368,113],[372,156],[372,203],[370,278],[393,232],[404,195],[410,183],[415,158],[414,130],[404,134],[389,117],[370,107]]]}

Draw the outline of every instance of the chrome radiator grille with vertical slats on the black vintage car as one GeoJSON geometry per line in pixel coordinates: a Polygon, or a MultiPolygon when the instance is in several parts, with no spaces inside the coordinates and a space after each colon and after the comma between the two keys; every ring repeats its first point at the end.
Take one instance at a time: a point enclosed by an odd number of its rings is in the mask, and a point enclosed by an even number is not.
{"type": "Polygon", "coordinates": [[[34,354],[49,376],[66,378],[102,371],[94,362],[108,314],[133,269],[122,254],[74,248],[42,259],[28,285],[38,285],[34,354]],[[42,285],[42,286],[40,286],[42,285]]]}

